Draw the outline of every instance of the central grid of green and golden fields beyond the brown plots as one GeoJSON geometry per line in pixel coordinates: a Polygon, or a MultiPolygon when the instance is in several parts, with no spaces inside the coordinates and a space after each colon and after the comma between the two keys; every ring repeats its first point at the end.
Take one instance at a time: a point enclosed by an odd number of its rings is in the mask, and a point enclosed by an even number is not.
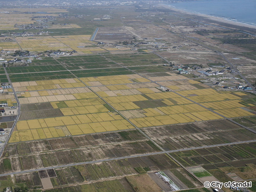
{"type": "Polygon", "coordinates": [[[7,68],[14,89],[20,92],[20,104],[26,108],[10,142],[223,119],[214,112],[226,117],[254,116],[244,109],[242,93],[215,91],[153,66],[146,58],[164,61],[148,53],[83,55],[59,57],[57,65],[55,59],[47,58],[35,61],[36,66],[7,68]],[[131,60],[149,66],[128,70],[114,63],[131,60]],[[22,73],[13,74],[15,70],[22,73]],[[163,76],[139,75],[154,71],[163,76]],[[177,91],[162,92],[152,81],[177,91]],[[38,104],[45,107],[33,112],[38,104]]]}

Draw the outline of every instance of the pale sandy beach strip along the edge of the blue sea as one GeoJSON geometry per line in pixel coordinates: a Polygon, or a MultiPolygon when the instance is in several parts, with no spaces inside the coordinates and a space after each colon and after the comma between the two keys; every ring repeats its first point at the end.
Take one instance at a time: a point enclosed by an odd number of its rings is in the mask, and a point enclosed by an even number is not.
{"type": "Polygon", "coordinates": [[[242,22],[238,22],[238,21],[229,20],[227,18],[221,18],[221,17],[207,15],[207,14],[194,13],[194,12],[190,12],[190,11],[187,11],[187,10],[182,10],[182,9],[176,8],[174,6],[165,5],[165,4],[157,4],[157,6],[162,6],[164,8],[167,8],[167,9],[170,9],[170,10],[174,10],[174,11],[177,11],[177,12],[180,12],[180,13],[191,14],[191,15],[198,15],[198,16],[201,16],[201,17],[213,20],[213,21],[217,21],[217,22],[223,22],[223,23],[228,23],[228,24],[231,24],[231,25],[240,26],[240,27],[248,27],[248,28],[251,28],[251,29],[256,29],[256,26],[254,26],[254,25],[250,25],[250,24],[247,24],[247,23],[242,23],[242,22]]]}

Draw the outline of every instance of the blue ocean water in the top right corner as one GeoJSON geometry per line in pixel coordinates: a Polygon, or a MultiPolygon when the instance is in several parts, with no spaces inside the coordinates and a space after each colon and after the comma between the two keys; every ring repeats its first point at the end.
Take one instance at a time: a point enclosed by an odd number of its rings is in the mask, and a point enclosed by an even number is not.
{"type": "Polygon", "coordinates": [[[256,26],[256,0],[197,0],[167,5],[256,26]]]}

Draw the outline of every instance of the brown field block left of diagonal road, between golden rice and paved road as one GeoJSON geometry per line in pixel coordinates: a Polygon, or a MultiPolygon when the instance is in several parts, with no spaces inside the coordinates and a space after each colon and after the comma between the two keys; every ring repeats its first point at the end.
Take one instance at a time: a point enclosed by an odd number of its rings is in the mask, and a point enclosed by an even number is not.
{"type": "Polygon", "coordinates": [[[6,155],[13,170],[30,170],[159,151],[145,141],[137,131],[122,131],[9,144],[6,155]]]}

